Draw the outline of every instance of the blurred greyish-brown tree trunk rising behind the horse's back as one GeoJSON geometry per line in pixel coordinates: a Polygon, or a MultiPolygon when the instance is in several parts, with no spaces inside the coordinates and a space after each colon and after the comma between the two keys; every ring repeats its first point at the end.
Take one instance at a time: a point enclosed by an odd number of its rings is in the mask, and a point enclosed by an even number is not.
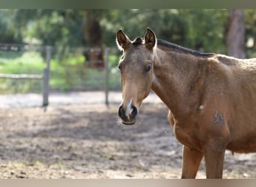
{"type": "Polygon", "coordinates": [[[228,10],[227,51],[236,58],[246,58],[245,20],[241,9],[228,10]]]}

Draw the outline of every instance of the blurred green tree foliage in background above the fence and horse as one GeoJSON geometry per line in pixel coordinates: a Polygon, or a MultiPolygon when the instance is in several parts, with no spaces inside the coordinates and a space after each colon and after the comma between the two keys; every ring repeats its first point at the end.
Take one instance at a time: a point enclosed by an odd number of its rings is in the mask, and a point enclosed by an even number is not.
{"type": "MultiPolygon", "coordinates": [[[[132,39],[149,27],[172,43],[225,53],[227,17],[219,9],[0,10],[0,42],[115,47],[118,29],[132,39]]],[[[256,10],[245,10],[246,41],[255,38],[255,17],[256,10]]]]}

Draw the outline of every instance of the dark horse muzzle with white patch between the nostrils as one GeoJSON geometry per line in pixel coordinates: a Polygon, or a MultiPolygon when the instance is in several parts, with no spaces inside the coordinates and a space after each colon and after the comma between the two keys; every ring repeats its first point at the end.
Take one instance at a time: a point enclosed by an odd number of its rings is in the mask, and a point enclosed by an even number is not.
{"type": "Polygon", "coordinates": [[[124,106],[121,105],[118,110],[118,115],[124,125],[133,125],[135,123],[137,114],[138,110],[134,105],[127,108],[124,108],[124,106]]]}

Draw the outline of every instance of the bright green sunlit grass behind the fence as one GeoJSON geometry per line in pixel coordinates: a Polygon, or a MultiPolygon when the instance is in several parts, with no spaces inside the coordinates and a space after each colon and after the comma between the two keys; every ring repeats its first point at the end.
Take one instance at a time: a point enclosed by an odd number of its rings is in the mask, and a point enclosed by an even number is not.
{"type": "MultiPolygon", "coordinates": [[[[0,73],[6,74],[43,74],[46,63],[39,52],[3,52],[0,58],[0,73]]],[[[117,56],[109,55],[109,89],[119,90],[120,73],[116,68],[117,56]]],[[[105,88],[105,70],[85,68],[83,55],[50,63],[50,87],[52,91],[95,91],[105,88]]],[[[38,79],[1,79],[0,93],[41,93],[43,81],[38,79]]]]}

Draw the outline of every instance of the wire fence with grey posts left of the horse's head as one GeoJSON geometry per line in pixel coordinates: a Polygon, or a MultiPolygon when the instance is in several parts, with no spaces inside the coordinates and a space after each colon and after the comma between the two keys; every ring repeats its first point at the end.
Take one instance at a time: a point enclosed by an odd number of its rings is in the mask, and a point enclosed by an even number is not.
{"type": "Polygon", "coordinates": [[[0,43],[0,93],[42,93],[48,105],[50,92],[120,90],[115,70],[115,49],[61,47],[0,43]],[[109,61],[111,63],[109,64],[109,61]]]}

